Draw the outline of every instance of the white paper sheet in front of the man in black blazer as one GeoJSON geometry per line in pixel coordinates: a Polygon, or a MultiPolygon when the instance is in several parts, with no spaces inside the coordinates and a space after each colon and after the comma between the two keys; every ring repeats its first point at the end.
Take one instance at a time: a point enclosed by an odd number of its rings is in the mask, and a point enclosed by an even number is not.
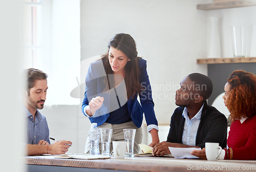
{"type": "MultiPolygon", "coordinates": [[[[201,148],[196,147],[169,147],[170,153],[175,158],[198,158],[190,153],[192,150],[201,150],[201,148]]],[[[199,159],[199,158],[198,158],[199,159]]]]}

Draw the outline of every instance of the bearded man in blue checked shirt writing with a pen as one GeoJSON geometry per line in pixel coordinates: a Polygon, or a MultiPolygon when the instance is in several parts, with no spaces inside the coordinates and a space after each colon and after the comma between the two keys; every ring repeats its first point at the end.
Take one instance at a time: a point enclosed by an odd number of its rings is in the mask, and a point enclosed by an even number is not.
{"type": "Polygon", "coordinates": [[[22,91],[26,121],[27,155],[65,154],[72,145],[71,141],[57,141],[50,145],[49,128],[45,116],[38,110],[44,108],[47,93],[47,74],[29,68],[24,71],[25,89],[22,91]]]}

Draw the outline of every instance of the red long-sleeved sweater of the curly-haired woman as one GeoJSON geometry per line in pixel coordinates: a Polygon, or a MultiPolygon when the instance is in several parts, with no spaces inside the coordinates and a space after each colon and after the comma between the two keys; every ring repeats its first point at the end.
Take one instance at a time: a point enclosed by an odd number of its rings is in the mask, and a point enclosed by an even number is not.
{"type": "Polygon", "coordinates": [[[256,160],[256,115],[243,123],[236,120],[231,124],[227,145],[233,149],[234,160],[256,160]]]}

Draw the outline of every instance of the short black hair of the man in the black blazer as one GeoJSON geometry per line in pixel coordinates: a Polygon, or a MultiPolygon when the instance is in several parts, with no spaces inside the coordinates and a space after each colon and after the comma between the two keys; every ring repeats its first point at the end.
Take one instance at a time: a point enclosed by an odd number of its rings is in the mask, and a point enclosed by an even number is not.
{"type": "Polygon", "coordinates": [[[207,100],[213,89],[210,78],[200,73],[191,73],[188,75],[188,78],[194,82],[195,88],[199,92],[200,96],[203,97],[204,101],[207,100]]]}

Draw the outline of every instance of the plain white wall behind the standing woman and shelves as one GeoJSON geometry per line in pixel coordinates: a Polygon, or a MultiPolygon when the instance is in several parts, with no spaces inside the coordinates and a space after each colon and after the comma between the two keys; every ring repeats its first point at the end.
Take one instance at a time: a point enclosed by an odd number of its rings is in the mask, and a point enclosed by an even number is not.
{"type": "MultiPolygon", "coordinates": [[[[160,124],[168,125],[177,107],[174,93],[179,82],[189,73],[207,74],[207,66],[197,65],[196,59],[207,55],[209,16],[223,18],[223,57],[232,57],[231,25],[252,24],[252,47],[256,46],[256,7],[204,11],[197,10],[198,2],[202,3],[191,0],[81,0],[81,61],[104,54],[114,34],[131,34],[137,42],[139,56],[147,60],[157,119],[160,124]]],[[[252,48],[251,56],[256,56],[255,51],[252,48]]],[[[81,71],[82,83],[87,70],[81,71]]],[[[48,119],[52,137],[73,141],[69,153],[83,153],[90,121],[82,115],[80,105],[45,107],[42,114],[48,119]]]]}

